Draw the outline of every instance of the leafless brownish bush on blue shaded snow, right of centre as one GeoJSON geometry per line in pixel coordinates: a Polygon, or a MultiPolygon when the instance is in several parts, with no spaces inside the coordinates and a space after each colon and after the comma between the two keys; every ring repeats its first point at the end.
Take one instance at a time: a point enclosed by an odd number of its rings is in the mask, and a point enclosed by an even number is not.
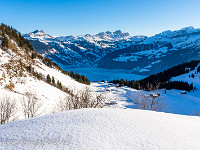
{"type": "Polygon", "coordinates": [[[133,101],[140,109],[154,111],[166,109],[166,104],[162,97],[146,95],[144,92],[140,92],[133,101]]]}

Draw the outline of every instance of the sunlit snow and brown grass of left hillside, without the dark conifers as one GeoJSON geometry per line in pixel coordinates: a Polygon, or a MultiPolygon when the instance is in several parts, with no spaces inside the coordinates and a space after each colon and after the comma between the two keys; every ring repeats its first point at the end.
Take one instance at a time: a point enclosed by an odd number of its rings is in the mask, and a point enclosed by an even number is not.
{"type": "MultiPolygon", "coordinates": [[[[27,93],[37,97],[39,110],[36,115],[44,115],[57,111],[56,106],[69,93],[57,88],[59,81],[63,88],[76,94],[86,85],[81,84],[55,67],[46,66],[39,58],[31,58],[31,51],[19,47],[17,42],[8,38],[8,47],[2,47],[0,36],[0,101],[8,98],[16,103],[16,113],[12,119],[23,119],[23,101],[27,93]],[[31,70],[27,67],[31,66],[31,70]],[[41,79],[34,76],[41,74],[41,79]],[[54,76],[55,85],[46,82],[47,75],[54,76]]],[[[1,110],[2,112],[2,110],[1,110]]],[[[11,120],[12,120],[11,119],[11,120]]]]}

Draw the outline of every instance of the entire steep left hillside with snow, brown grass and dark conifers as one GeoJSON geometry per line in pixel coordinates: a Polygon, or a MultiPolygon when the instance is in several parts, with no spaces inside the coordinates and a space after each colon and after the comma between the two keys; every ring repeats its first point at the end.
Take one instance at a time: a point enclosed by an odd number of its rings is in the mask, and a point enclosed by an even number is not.
{"type": "MultiPolygon", "coordinates": [[[[0,110],[1,114],[5,113],[6,103],[13,107],[8,122],[26,118],[24,111],[32,102],[36,107],[34,116],[55,112],[60,100],[86,87],[45,60],[31,50],[19,32],[0,26],[0,110]],[[52,65],[51,68],[43,62],[52,65]]],[[[7,122],[2,116],[0,124],[7,122]]]]}

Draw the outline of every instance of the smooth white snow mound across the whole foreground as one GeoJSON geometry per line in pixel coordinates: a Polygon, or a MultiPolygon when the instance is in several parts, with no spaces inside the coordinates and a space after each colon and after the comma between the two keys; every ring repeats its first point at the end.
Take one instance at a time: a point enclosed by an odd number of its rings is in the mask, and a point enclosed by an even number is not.
{"type": "Polygon", "coordinates": [[[200,118],[137,109],[71,110],[1,125],[0,142],[0,149],[199,150],[200,118]]]}

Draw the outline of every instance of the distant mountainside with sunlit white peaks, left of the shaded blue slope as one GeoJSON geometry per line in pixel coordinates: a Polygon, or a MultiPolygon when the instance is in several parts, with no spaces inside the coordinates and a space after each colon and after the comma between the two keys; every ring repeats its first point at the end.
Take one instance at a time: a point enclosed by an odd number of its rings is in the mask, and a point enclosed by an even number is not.
{"type": "Polygon", "coordinates": [[[34,49],[64,65],[95,65],[99,59],[116,49],[126,48],[145,36],[131,37],[120,30],[96,35],[53,37],[43,31],[25,34],[34,49]]]}

